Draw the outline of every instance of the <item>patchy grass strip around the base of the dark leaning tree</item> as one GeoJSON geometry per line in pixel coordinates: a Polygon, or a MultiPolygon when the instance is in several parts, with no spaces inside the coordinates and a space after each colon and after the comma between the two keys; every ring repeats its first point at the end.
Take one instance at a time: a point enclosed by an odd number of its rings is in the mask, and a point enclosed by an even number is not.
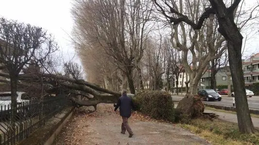
{"type": "Polygon", "coordinates": [[[203,137],[212,145],[259,145],[259,132],[242,134],[236,123],[219,119],[213,121],[204,118],[191,120],[190,124],[177,124],[203,137]]]}

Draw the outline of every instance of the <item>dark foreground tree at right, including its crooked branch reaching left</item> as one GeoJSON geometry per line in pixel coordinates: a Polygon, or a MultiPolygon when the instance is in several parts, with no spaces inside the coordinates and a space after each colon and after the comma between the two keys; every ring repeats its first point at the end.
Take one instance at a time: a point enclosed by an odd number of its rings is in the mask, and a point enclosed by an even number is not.
{"type": "MultiPolygon", "coordinates": [[[[196,21],[192,21],[188,15],[182,13],[181,10],[179,11],[177,7],[175,7],[175,1],[173,1],[173,4],[169,4],[167,1],[159,0],[163,1],[163,4],[170,9],[169,12],[173,15],[166,13],[163,5],[157,2],[158,0],[154,1],[155,4],[159,7],[161,13],[166,16],[171,23],[176,25],[180,22],[184,22],[194,30],[202,29],[206,19],[211,17],[211,15],[216,15],[217,21],[219,23],[218,31],[224,36],[227,42],[230,72],[232,80],[235,82],[233,84],[234,92],[237,94],[235,95],[235,102],[237,106],[239,130],[242,133],[254,132],[255,129],[249,113],[242,71],[241,51],[243,37],[234,20],[236,9],[238,8],[241,0],[234,0],[233,3],[231,3],[231,5],[228,7],[223,0],[208,0],[210,6],[204,9],[204,13],[202,13],[196,21]]],[[[182,0],[179,1],[182,2],[182,0]]]]}

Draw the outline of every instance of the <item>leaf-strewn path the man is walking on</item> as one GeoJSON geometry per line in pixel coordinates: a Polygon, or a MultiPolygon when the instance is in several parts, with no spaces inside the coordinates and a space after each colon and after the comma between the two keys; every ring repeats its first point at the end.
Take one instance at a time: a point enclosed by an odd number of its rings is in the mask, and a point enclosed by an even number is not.
{"type": "Polygon", "coordinates": [[[170,123],[129,119],[134,132],[121,134],[121,117],[112,104],[99,104],[97,112],[75,115],[54,145],[209,145],[206,140],[170,123]]]}

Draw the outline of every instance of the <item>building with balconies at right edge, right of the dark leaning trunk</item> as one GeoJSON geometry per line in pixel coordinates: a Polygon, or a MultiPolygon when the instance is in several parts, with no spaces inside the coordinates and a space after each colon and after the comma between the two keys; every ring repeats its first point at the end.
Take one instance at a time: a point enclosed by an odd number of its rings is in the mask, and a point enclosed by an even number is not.
{"type": "Polygon", "coordinates": [[[259,53],[242,61],[245,86],[259,82],[259,53]]]}

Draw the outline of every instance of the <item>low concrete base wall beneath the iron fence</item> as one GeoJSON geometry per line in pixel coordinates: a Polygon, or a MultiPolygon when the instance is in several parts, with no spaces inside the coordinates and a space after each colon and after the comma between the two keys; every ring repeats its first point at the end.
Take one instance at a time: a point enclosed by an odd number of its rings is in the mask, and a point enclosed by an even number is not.
{"type": "Polygon", "coordinates": [[[60,114],[53,117],[43,127],[33,132],[17,145],[52,145],[64,124],[72,116],[73,110],[74,107],[64,109],[60,114]]]}

